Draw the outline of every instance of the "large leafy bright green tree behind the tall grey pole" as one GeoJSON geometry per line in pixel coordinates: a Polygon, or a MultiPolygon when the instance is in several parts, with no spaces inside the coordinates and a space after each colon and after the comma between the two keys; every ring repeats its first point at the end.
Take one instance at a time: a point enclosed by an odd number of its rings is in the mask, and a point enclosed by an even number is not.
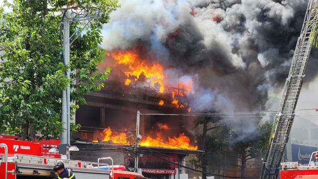
{"type": "MultiPolygon", "coordinates": [[[[100,71],[105,55],[102,24],[120,4],[117,0],[4,0],[0,8],[0,131],[60,137],[62,91],[70,86],[71,102],[84,104],[84,94],[100,90],[110,69],[100,71]],[[84,21],[70,24],[77,36],[71,45],[70,63],[63,63],[61,47],[63,13],[68,9],[98,7],[102,17],[89,26],[84,21]],[[81,28],[84,28],[83,31],[81,28]],[[65,73],[70,70],[70,79],[65,73]],[[73,83],[77,82],[77,83],[73,83]],[[30,133],[29,133],[30,132],[30,133]]],[[[94,13],[94,8],[87,8],[94,13]]],[[[71,111],[78,108],[72,105],[71,111]]],[[[72,129],[76,129],[74,123],[72,129]]]]}

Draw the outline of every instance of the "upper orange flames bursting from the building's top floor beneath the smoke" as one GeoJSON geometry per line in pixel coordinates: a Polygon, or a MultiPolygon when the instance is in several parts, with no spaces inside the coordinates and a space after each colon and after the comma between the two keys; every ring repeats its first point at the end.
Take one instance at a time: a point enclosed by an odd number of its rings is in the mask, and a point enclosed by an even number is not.
{"type": "MultiPolygon", "coordinates": [[[[141,58],[134,50],[111,51],[107,52],[107,55],[114,58],[118,64],[123,64],[127,67],[127,70],[123,71],[127,78],[125,80],[125,85],[128,86],[131,85],[132,82],[137,81],[148,82],[151,88],[159,90],[160,93],[164,90],[170,91],[173,99],[171,104],[175,105],[177,108],[187,107],[187,104],[178,102],[176,96],[184,96],[189,93],[192,87],[191,78],[181,78],[179,79],[179,82],[166,87],[163,83],[164,81],[167,81],[167,79],[164,79],[164,69],[158,61],[156,62],[152,58],[141,58]]],[[[159,101],[159,105],[163,105],[162,100],[159,101]]],[[[190,111],[190,108],[188,111],[190,111]]]]}

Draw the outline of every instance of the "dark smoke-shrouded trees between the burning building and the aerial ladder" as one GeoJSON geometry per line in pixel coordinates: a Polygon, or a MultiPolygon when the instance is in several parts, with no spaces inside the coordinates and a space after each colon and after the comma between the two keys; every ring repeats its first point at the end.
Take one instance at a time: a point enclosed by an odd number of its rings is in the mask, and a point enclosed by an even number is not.
{"type": "MultiPolygon", "coordinates": [[[[211,174],[213,176],[224,177],[224,174],[220,174],[217,171],[223,170],[224,166],[239,167],[241,176],[227,176],[229,178],[244,178],[244,171],[246,162],[252,159],[264,158],[268,148],[268,141],[271,135],[272,124],[269,122],[259,123],[253,132],[229,130],[226,124],[222,124],[219,120],[211,120],[212,118],[206,117],[200,120],[200,124],[212,122],[212,126],[204,131],[205,142],[203,154],[196,154],[196,158],[190,160],[196,169],[202,170],[202,176],[211,174]],[[232,156],[235,156],[234,159],[232,156]],[[241,161],[238,165],[234,161],[241,161]],[[231,160],[231,163],[228,163],[231,160]]],[[[198,136],[198,141],[202,141],[202,136],[198,136]]]]}

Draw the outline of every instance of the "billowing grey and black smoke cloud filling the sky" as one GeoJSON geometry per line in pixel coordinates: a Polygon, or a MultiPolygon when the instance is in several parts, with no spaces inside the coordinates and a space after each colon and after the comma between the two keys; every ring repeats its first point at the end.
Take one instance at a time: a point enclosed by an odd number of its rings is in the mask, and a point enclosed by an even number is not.
{"type": "MultiPolygon", "coordinates": [[[[104,25],[102,48],[143,46],[170,79],[191,77],[192,112],[245,112],[263,111],[272,95],[281,96],[308,0],[120,3],[104,25]]],[[[317,77],[315,54],[313,48],[308,84],[317,77]]]]}

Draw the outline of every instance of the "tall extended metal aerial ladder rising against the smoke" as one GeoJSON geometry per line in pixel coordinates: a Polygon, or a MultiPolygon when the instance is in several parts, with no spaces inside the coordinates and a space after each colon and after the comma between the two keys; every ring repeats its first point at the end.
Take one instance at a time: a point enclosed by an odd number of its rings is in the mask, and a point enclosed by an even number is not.
{"type": "Polygon", "coordinates": [[[269,146],[263,161],[260,179],[277,179],[280,162],[295,118],[295,108],[305,77],[305,68],[312,48],[311,32],[315,29],[318,0],[309,0],[303,27],[298,38],[283,95],[273,123],[269,146]]]}

